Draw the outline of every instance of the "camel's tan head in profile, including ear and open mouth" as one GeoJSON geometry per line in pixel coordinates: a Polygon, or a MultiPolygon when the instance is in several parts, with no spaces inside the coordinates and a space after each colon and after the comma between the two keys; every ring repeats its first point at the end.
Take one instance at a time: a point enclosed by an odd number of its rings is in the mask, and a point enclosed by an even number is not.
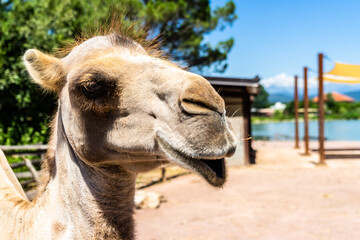
{"type": "Polygon", "coordinates": [[[203,77],[119,34],[90,38],[64,58],[31,49],[24,61],[59,96],[58,122],[85,164],[137,173],[170,162],[225,182],[236,143],[224,101],[203,77]]]}

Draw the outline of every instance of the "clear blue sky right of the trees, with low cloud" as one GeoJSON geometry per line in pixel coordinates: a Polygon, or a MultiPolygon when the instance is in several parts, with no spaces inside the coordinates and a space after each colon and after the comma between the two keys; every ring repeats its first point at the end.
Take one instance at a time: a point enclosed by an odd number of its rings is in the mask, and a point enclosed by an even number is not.
{"type": "MultiPolygon", "coordinates": [[[[225,1],[212,0],[212,7],[225,1]]],[[[317,53],[332,61],[360,64],[360,0],[235,0],[238,19],[232,27],[215,32],[206,41],[215,43],[234,37],[235,45],[224,74],[254,77],[270,92],[293,89],[293,76],[303,67],[317,70],[317,53]]],[[[332,68],[325,61],[325,70],[332,68]]],[[[316,77],[309,72],[309,77],[316,77]]],[[[310,91],[316,92],[315,79],[310,91]]],[[[346,92],[360,84],[326,83],[325,91],[346,92]]]]}

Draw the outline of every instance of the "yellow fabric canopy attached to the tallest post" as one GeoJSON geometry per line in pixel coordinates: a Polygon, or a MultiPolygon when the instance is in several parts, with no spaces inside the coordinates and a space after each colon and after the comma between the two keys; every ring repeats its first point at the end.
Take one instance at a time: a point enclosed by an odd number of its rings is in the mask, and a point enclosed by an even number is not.
{"type": "Polygon", "coordinates": [[[338,83],[360,83],[360,65],[335,62],[334,68],[324,74],[324,80],[338,83]]]}

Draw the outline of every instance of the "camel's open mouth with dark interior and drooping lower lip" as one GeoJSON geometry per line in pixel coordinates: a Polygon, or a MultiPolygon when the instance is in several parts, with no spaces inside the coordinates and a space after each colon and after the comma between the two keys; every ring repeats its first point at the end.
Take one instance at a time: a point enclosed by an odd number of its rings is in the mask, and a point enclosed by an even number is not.
{"type": "Polygon", "coordinates": [[[210,185],[221,187],[226,181],[225,159],[193,158],[172,147],[166,140],[159,137],[159,143],[170,162],[191,172],[200,174],[210,185]]]}

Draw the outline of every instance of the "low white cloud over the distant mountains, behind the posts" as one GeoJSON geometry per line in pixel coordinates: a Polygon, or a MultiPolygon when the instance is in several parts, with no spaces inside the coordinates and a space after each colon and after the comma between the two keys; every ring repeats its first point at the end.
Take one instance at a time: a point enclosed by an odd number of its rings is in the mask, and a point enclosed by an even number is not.
{"type": "MultiPolygon", "coordinates": [[[[287,75],[286,73],[280,73],[274,77],[263,78],[260,82],[266,89],[272,88],[286,88],[292,90],[294,88],[294,76],[287,75]]],[[[303,78],[298,77],[298,87],[304,87],[303,78]]],[[[317,88],[316,77],[308,78],[308,88],[317,88]]]]}

